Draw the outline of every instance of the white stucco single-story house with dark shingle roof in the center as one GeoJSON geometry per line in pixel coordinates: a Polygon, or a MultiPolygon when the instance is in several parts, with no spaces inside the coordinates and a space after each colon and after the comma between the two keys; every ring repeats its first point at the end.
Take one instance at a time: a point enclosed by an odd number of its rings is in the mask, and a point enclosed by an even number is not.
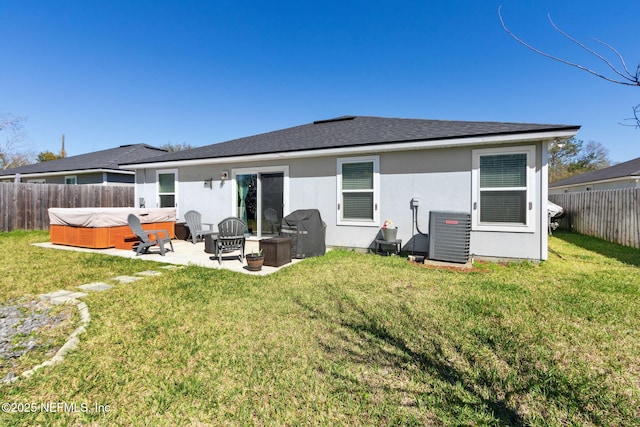
{"type": "Polygon", "coordinates": [[[121,166],[140,205],[242,217],[255,238],[318,209],[329,246],[372,248],[391,220],[405,250],[426,252],[430,211],[452,211],[471,215],[475,257],[544,260],[547,146],[579,128],[343,116],[121,166]]]}

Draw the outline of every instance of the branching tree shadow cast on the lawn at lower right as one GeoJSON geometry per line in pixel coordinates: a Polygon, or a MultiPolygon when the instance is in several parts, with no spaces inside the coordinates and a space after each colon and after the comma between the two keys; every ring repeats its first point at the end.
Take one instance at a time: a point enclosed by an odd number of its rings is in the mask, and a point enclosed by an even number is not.
{"type": "MultiPolygon", "coordinates": [[[[440,421],[448,420],[447,423],[454,418],[465,425],[482,424],[489,418],[492,425],[529,425],[530,420],[525,420],[518,410],[522,408],[517,407],[520,404],[526,407],[528,398],[544,400],[544,403],[538,402],[546,406],[543,412],[555,407],[569,418],[577,416],[595,425],[603,422],[603,408],[590,408],[593,405],[589,396],[604,393],[606,387],[585,378],[572,379],[563,368],[536,349],[538,343],[518,339],[508,326],[496,324],[492,330],[484,332],[467,330],[457,337],[455,332],[438,331],[428,322],[425,324],[423,319],[416,318],[403,307],[399,313],[394,311],[396,316],[389,320],[384,310],[370,312],[345,295],[329,297],[336,303],[335,311],[324,311],[300,299],[297,303],[310,318],[335,325],[330,327],[330,334],[318,338],[330,359],[347,367],[347,374],[333,373],[334,378],[351,384],[353,389],[345,391],[356,395],[358,391],[369,393],[374,389],[382,393],[413,393],[416,401],[426,404],[435,416],[443,418],[440,421]],[[397,327],[387,327],[385,322],[392,322],[397,327]],[[413,330],[406,334],[392,330],[402,329],[402,325],[407,324],[413,325],[410,327],[413,330]],[[513,377],[496,376],[491,363],[482,356],[487,349],[509,364],[513,377]],[[365,372],[406,373],[414,385],[419,384],[419,390],[430,391],[416,391],[415,386],[413,390],[404,389],[394,380],[393,374],[387,381],[366,376],[354,378],[353,374],[348,375],[349,366],[354,365],[361,366],[365,372]],[[407,373],[411,366],[420,372],[407,373]],[[362,382],[366,383],[364,390],[361,389],[362,382]]],[[[396,404],[386,397],[383,397],[385,402],[396,404]]],[[[533,417],[544,418],[545,415],[537,413],[533,417]]]]}

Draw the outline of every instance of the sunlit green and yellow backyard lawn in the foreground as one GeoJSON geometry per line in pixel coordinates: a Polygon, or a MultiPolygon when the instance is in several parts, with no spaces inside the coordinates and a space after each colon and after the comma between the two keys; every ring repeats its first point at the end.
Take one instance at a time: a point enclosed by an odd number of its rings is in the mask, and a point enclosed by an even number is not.
{"type": "MultiPolygon", "coordinates": [[[[0,235],[0,295],[157,268],[0,235]]],[[[92,321],[3,425],[639,425],[638,251],[557,233],[542,264],[426,269],[332,251],[256,277],[187,267],[85,298],[92,321]]]]}

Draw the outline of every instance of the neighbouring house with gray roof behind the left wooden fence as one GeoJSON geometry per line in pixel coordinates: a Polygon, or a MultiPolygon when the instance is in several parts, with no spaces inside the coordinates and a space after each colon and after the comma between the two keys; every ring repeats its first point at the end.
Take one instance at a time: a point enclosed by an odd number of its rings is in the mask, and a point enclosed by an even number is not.
{"type": "Polygon", "coordinates": [[[0,182],[46,184],[133,185],[135,172],[119,163],[148,159],[167,150],[146,144],[121,145],[108,150],[0,170],[0,182]]]}

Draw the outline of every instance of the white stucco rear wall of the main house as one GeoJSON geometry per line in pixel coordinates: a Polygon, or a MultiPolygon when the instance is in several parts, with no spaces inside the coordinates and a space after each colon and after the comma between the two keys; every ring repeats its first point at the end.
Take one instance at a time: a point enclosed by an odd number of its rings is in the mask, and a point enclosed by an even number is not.
{"type": "MultiPolygon", "coordinates": [[[[528,143],[531,145],[531,143],[528,143]]],[[[360,154],[376,155],[375,153],[360,154]]],[[[546,168],[543,168],[543,144],[536,144],[536,183],[534,189],[535,217],[533,232],[472,231],[470,251],[479,257],[546,259],[546,168]],[[544,188],[544,191],[542,191],[544,188]],[[544,200],[544,208],[542,207],[544,200]]],[[[349,157],[349,156],[341,156],[349,157]]],[[[319,209],[327,224],[326,243],[329,246],[368,248],[386,219],[398,226],[398,238],[405,250],[425,252],[428,241],[420,236],[413,224],[411,199],[419,199],[418,228],[428,233],[429,211],[470,213],[472,208],[471,168],[472,147],[387,152],[380,160],[380,224],[367,226],[338,225],[337,157],[274,160],[261,163],[214,164],[178,168],[178,218],[189,209],[202,213],[203,222],[217,224],[234,215],[231,172],[236,168],[283,166],[288,170],[289,197],[285,215],[297,209],[319,209]],[[229,180],[222,181],[222,171],[229,180]],[[204,184],[213,178],[211,188],[204,184]]],[[[144,197],[147,207],[156,203],[156,170],[138,171],[136,197],[144,197]]]]}

